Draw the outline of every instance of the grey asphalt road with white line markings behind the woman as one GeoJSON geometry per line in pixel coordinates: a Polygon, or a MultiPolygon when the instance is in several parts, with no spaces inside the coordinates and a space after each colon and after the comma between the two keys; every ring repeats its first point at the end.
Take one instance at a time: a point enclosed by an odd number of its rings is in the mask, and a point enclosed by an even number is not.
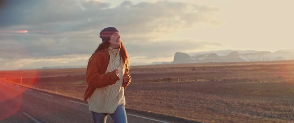
{"type": "MultiPolygon", "coordinates": [[[[128,123],[175,123],[133,110],[127,110],[127,117],[128,123]]],[[[93,119],[85,101],[0,81],[0,123],[93,123],[93,119]]],[[[110,116],[107,123],[113,123],[110,116]]]]}

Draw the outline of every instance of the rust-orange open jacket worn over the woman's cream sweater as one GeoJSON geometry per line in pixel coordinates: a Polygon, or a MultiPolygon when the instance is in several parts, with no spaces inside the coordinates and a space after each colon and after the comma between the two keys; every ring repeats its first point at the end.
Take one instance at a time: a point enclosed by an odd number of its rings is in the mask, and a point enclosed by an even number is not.
{"type": "MultiPolygon", "coordinates": [[[[120,79],[114,71],[105,73],[109,64],[109,59],[108,49],[105,49],[93,54],[92,58],[89,60],[86,71],[86,83],[88,84],[88,87],[84,94],[85,101],[93,94],[96,88],[115,84],[116,81],[120,79]]],[[[130,78],[128,84],[123,85],[124,89],[126,89],[131,83],[129,69],[125,69],[124,76],[129,76],[130,78]]]]}

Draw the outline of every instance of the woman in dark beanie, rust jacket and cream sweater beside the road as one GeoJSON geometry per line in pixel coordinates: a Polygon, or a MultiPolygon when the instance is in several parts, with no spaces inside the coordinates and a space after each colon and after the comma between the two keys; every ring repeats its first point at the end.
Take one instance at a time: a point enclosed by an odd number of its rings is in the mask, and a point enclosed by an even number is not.
{"type": "Polygon", "coordinates": [[[100,32],[102,43],[89,58],[84,100],[88,100],[94,123],[127,123],[124,90],[131,82],[129,57],[115,27],[100,32]]]}

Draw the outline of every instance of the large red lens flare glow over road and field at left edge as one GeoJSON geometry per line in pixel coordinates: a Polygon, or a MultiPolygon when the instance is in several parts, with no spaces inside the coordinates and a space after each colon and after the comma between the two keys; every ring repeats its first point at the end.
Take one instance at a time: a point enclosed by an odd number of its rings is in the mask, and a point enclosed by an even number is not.
{"type": "Polygon", "coordinates": [[[37,70],[0,71],[0,121],[19,111],[24,93],[38,76],[37,70]]]}

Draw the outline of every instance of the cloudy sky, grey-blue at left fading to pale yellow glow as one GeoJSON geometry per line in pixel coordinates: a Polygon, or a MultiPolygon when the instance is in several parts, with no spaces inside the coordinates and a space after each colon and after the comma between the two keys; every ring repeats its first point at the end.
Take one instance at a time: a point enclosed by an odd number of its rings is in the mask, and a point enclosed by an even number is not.
{"type": "Polygon", "coordinates": [[[132,65],[176,52],[293,49],[293,0],[0,0],[0,70],[86,66],[120,30],[132,65]]]}

